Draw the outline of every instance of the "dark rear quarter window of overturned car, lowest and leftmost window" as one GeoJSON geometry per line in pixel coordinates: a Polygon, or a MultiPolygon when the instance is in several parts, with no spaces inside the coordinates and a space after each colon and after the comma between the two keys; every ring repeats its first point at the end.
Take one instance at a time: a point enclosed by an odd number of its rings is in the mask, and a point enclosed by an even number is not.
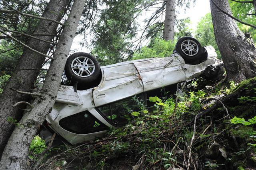
{"type": "Polygon", "coordinates": [[[107,130],[108,127],[101,123],[89,111],[83,111],[59,121],[60,127],[76,134],[88,134],[107,130]]]}

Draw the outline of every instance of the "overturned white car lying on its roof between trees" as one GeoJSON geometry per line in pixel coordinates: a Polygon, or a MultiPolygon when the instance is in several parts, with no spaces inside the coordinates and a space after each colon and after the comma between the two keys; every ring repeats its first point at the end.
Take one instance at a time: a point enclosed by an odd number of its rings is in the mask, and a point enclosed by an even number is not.
{"type": "MultiPolygon", "coordinates": [[[[76,86],[61,86],[44,126],[71,144],[102,137],[109,128],[126,124],[131,112],[140,110],[134,96],[146,101],[154,90],[192,80],[207,66],[218,64],[216,57],[212,46],[201,47],[191,37],[180,39],[170,57],[102,67],[91,55],[75,53],[66,63],[67,77],[78,81],[80,89],[88,84],[94,87],[76,90],[76,86]]],[[[40,132],[46,142],[49,131],[40,132]]]]}

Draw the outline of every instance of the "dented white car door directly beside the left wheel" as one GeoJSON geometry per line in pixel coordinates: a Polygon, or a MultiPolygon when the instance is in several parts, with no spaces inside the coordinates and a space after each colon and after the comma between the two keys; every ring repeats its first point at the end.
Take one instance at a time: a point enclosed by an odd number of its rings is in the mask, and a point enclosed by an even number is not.
{"type": "Polygon", "coordinates": [[[104,78],[92,93],[95,107],[143,92],[142,80],[132,62],[105,66],[101,69],[104,78]]]}

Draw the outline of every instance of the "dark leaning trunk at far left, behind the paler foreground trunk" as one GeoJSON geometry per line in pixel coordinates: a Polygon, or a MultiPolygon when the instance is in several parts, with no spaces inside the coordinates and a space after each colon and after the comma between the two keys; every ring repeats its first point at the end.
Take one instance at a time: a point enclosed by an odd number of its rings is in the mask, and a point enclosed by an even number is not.
{"type": "MultiPolygon", "coordinates": [[[[60,21],[62,19],[62,14],[65,10],[64,7],[68,5],[70,0],[50,0],[46,10],[43,13],[43,17],[51,18],[56,21],[60,21]]],[[[38,23],[38,26],[34,33],[40,34],[55,34],[58,23],[53,23],[51,21],[41,20],[38,23]]],[[[50,36],[37,36],[40,39],[44,39],[47,41],[51,41],[53,37],[50,36]]],[[[30,39],[27,44],[29,47],[40,51],[41,53],[46,54],[50,44],[36,40],[30,39]]],[[[20,90],[20,91],[31,91],[34,82],[38,76],[38,70],[19,70],[19,69],[30,69],[30,68],[41,68],[44,63],[45,58],[34,53],[28,49],[24,49],[22,57],[16,66],[16,70],[14,74],[8,81],[3,93],[0,96],[0,156],[4,147],[10,137],[14,125],[8,122],[6,119],[8,117],[13,117],[14,119],[20,120],[22,116],[22,110],[18,109],[18,107],[12,107],[17,102],[27,101],[29,96],[18,94],[10,88],[20,90]]],[[[22,107],[22,106],[19,106],[22,107]]],[[[23,106],[24,108],[24,106],[23,106]]]]}

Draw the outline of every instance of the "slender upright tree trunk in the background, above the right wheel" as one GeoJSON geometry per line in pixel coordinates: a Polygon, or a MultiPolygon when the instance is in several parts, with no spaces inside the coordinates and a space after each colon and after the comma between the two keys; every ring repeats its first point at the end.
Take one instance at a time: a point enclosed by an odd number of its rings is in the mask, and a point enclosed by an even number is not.
{"type": "Polygon", "coordinates": [[[175,6],[176,0],[167,0],[164,19],[164,39],[166,41],[174,40],[175,6]]]}

